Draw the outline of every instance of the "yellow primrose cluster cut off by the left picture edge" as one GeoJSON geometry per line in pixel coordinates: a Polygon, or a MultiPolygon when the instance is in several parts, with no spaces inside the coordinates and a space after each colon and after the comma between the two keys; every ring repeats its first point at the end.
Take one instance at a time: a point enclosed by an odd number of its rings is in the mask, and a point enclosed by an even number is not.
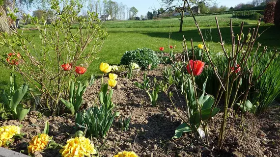
{"type": "Polygon", "coordinates": [[[15,134],[20,134],[21,128],[18,126],[0,127],[0,147],[6,145],[6,142],[13,138],[15,134]]]}

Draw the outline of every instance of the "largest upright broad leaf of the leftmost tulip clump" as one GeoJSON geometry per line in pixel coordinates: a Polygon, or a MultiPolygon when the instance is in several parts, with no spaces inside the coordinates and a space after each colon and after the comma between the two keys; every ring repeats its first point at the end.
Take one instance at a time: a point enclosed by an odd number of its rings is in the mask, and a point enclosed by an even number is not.
{"type": "Polygon", "coordinates": [[[17,106],[20,104],[21,100],[23,99],[27,91],[28,91],[28,85],[25,84],[21,86],[19,89],[17,89],[15,91],[15,94],[12,96],[10,106],[11,109],[14,110],[16,114],[17,114],[17,106]]]}

